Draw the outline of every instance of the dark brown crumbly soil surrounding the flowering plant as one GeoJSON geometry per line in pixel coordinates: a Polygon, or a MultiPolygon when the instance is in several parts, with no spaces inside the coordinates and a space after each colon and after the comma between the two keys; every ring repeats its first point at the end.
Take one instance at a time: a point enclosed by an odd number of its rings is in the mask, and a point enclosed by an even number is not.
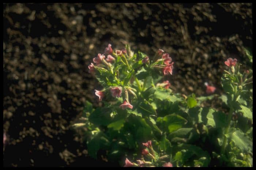
{"type": "Polygon", "coordinates": [[[100,105],[88,65],[108,43],[170,53],[170,88],[196,96],[206,81],[221,94],[224,61],[252,50],[250,3],[3,5],[4,166],[118,166],[89,158],[71,128],[86,100],[100,105]]]}

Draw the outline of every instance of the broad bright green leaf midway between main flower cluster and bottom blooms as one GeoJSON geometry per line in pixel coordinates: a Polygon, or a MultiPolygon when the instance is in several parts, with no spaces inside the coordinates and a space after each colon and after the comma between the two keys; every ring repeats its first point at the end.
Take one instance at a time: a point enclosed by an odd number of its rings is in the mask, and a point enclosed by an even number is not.
{"type": "Polygon", "coordinates": [[[165,117],[158,117],[157,122],[163,124],[165,129],[167,128],[169,132],[173,132],[182,128],[182,125],[187,123],[187,120],[179,115],[171,114],[165,117]]]}

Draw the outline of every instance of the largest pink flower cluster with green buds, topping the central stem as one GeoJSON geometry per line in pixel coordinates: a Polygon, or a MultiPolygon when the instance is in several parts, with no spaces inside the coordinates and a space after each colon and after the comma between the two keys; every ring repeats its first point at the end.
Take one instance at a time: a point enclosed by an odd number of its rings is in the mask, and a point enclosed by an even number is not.
{"type": "MultiPolygon", "coordinates": [[[[144,90],[144,85],[142,86],[135,76],[138,69],[142,67],[146,67],[146,69],[160,68],[164,75],[172,74],[174,62],[170,55],[161,49],[157,51],[152,61],[147,55],[140,57],[140,62],[138,59],[139,57],[133,55],[128,45],[126,49],[113,50],[111,44],[105,48],[103,54],[98,53],[97,57],[93,58],[93,63],[88,66],[89,73],[105,81],[107,85],[103,90],[95,90],[99,101],[102,101],[105,96],[107,100],[111,94],[114,98],[123,98],[123,103],[119,105],[121,109],[132,109],[133,105],[130,103],[129,95],[137,98],[136,92],[144,90]],[[133,68],[133,66],[135,67],[133,68]],[[136,85],[133,85],[134,80],[136,85]]],[[[168,89],[170,83],[167,80],[157,86],[168,89]]]]}

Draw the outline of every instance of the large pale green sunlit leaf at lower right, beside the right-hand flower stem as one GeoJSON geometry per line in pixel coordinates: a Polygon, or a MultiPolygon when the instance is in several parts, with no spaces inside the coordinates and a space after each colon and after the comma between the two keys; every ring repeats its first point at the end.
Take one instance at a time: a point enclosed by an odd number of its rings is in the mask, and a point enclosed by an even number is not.
{"type": "Polygon", "coordinates": [[[236,129],[234,132],[225,134],[230,138],[242,152],[252,151],[252,140],[248,138],[241,130],[236,129]]]}

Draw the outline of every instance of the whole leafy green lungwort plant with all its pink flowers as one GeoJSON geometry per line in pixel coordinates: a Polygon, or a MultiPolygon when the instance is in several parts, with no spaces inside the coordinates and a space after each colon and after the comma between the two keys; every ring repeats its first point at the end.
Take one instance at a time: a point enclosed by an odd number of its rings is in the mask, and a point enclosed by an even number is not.
{"type": "Polygon", "coordinates": [[[166,75],[174,62],[165,51],[148,56],[108,45],[89,65],[103,107],[87,101],[74,124],[84,130],[89,155],[125,167],[252,166],[252,70],[240,73],[237,59],[225,65],[227,113],[199,107],[207,97],[173,93],[166,75]]]}

